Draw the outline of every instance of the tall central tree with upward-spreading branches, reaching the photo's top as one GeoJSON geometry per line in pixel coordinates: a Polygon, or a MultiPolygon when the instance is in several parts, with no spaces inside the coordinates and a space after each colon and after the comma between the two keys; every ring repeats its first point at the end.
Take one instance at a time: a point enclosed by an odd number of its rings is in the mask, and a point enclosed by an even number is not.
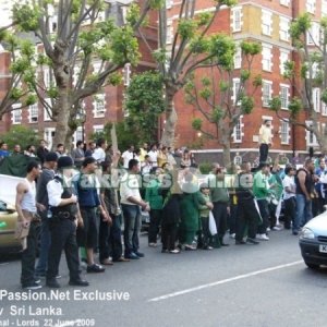
{"type": "Polygon", "coordinates": [[[201,0],[181,1],[171,46],[167,45],[169,28],[166,4],[159,10],[158,49],[155,58],[164,78],[166,125],[161,143],[166,146],[172,146],[174,142],[178,116],[173,97],[184,86],[190,74],[198,68],[213,64],[219,52],[219,38],[215,34],[208,35],[209,29],[221,7],[231,7],[237,1],[215,0],[213,3],[215,9],[211,12],[196,13],[201,0]]]}

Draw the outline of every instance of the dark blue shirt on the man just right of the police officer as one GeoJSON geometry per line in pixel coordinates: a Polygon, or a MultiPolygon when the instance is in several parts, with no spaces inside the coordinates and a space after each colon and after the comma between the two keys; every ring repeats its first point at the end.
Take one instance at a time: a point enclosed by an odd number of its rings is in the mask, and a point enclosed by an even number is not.
{"type": "Polygon", "coordinates": [[[77,173],[73,178],[73,186],[80,207],[98,207],[100,205],[95,174],[77,173]]]}

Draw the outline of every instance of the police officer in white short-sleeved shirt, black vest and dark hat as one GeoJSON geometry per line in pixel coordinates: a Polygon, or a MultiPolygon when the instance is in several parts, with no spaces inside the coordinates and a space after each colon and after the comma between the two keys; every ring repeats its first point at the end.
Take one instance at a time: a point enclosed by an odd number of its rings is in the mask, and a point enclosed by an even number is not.
{"type": "Polygon", "coordinates": [[[47,286],[60,288],[56,276],[58,275],[61,252],[64,250],[70,270],[71,286],[86,287],[88,282],[81,278],[78,247],[76,243],[76,226],[83,223],[77,207],[77,197],[69,185],[72,177],[73,160],[63,156],[58,159],[58,173],[47,184],[50,205],[51,245],[49,250],[47,286]],[[77,220],[77,221],[76,221],[77,220]]]}

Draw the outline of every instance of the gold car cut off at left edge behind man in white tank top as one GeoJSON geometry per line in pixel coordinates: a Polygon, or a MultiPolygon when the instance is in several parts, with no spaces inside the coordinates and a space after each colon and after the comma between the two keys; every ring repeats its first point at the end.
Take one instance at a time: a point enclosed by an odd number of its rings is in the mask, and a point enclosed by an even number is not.
{"type": "Polygon", "coordinates": [[[19,252],[22,246],[14,238],[14,230],[17,220],[15,208],[0,199],[0,254],[19,252]]]}

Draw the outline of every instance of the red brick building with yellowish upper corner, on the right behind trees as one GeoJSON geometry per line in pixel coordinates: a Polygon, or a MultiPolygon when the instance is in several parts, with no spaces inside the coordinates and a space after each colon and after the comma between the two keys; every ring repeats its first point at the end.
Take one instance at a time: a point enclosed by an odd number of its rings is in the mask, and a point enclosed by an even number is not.
{"type": "MultiPolygon", "coordinates": [[[[171,9],[172,10],[172,9],[171,9]]],[[[293,126],[288,122],[278,119],[275,112],[269,110],[269,100],[272,96],[280,96],[281,116],[288,117],[288,102],[294,95],[294,87],[290,85],[282,76],[283,63],[286,61],[296,61],[296,52],[293,50],[289,36],[290,23],[299,14],[308,12],[314,21],[311,34],[316,37],[316,44],[319,38],[319,20],[327,15],[326,0],[240,0],[239,4],[231,10],[225,9],[219,13],[216,26],[213,29],[222,31],[230,34],[239,43],[242,40],[253,40],[262,45],[263,50],[255,58],[253,64],[253,74],[261,74],[263,86],[258,89],[255,97],[255,108],[249,116],[241,117],[239,124],[232,135],[232,157],[240,157],[255,160],[258,156],[258,130],[264,120],[271,120],[274,132],[274,146],[270,149],[271,159],[277,154],[284,154],[289,159],[293,153],[307,155],[310,148],[318,152],[318,144],[314,135],[300,126],[293,126]]],[[[173,16],[173,14],[172,14],[173,16]]],[[[308,44],[313,46],[313,43],[308,44]]],[[[239,83],[238,72],[242,68],[242,58],[240,52],[235,55],[235,78],[239,83]]],[[[202,71],[199,74],[204,74],[202,71]]],[[[320,112],[322,128],[327,122],[327,109],[320,101],[319,89],[314,89],[314,106],[316,111],[320,112]]],[[[251,93],[251,89],[250,89],[251,93]]],[[[177,128],[177,138],[181,144],[198,144],[201,133],[192,131],[190,128],[190,117],[201,117],[197,110],[185,104],[184,94],[180,92],[175,99],[174,106],[179,112],[179,122],[177,128]]],[[[299,117],[301,122],[310,121],[304,113],[299,117]]],[[[204,130],[210,130],[208,123],[204,120],[204,130]]],[[[217,159],[222,152],[217,141],[205,141],[205,150],[202,157],[217,159]]]]}

